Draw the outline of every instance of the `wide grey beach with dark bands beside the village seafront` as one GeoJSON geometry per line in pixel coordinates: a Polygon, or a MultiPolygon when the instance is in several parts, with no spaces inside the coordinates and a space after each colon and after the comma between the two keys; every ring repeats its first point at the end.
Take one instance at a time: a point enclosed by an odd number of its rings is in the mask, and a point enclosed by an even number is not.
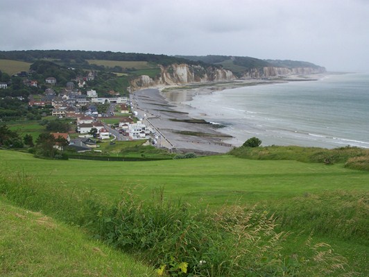
{"type": "Polygon", "coordinates": [[[200,154],[226,153],[232,149],[227,142],[231,137],[216,131],[212,124],[190,123],[187,112],[178,111],[159,89],[139,90],[131,99],[138,117],[160,135],[158,146],[200,154]]]}

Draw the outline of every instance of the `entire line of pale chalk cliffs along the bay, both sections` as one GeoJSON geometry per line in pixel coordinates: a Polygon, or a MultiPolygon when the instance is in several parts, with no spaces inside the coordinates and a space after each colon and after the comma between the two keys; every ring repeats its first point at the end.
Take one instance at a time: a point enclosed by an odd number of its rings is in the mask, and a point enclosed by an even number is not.
{"type": "MultiPolygon", "coordinates": [[[[189,83],[209,83],[219,81],[231,81],[237,76],[228,69],[218,67],[202,67],[201,65],[173,64],[160,66],[160,76],[150,78],[142,75],[130,81],[131,90],[139,90],[145,87],[158,85],[185,85],[189,83]]],[[[325,72],[324,67],[255,67],[248,69],[241,78],[273,78],[277,76],[289,76],[297,74],[318,74],[325,72]]]]}

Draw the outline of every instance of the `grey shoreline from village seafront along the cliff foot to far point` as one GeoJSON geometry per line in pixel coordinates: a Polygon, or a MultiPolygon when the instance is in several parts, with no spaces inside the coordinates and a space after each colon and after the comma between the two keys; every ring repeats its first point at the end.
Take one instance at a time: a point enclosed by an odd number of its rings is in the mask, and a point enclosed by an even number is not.
{"type": "MultiPolygon", "coordinates": [[[[271,85],[291,81],[316,81],[317,76],[289,76],[289,78],[259,80],[250,79],[225,83],[190,84],[186,86],[163,86],[137,90],[131,94],[133,108],[153,128],[160,138],[157,144],[169,151],[195,152],[205,155],[227,153],[234,144],[231,135],[218,130],[218,125],[205,120],[193,120],[187,105],[194,96],[212,94],[221,90],[255,85],[271,85]]],[[[323,76],[320,74],[320,78],[323,76]]],[[[204,115],[206,116],[206,115],[204,115]]]]}

